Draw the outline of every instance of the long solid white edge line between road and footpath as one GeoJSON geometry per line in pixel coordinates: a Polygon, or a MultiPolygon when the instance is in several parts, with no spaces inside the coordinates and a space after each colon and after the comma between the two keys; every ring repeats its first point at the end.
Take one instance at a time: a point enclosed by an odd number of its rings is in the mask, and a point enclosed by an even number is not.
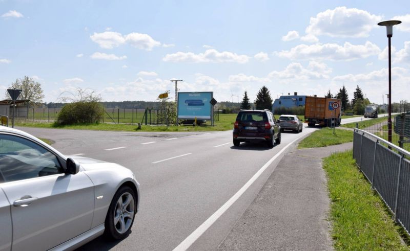
{"type": "Polygon", "coordinates": [[[233,203],[235,203],[235,201],[245,191],[247,191],[247,189],[253,184],[253,182],[255,182],[255,180],[257,178],[259,178],[259,176],[263,173],[263,171],[265,171],[269,167],[269,165],[271,165],[272,162],[274,162],[275,159],[280,156],[280,154],[282,154],[290,145],[295,143],[297,140],[299,140],[299,138],[292,141],[291,143],[289,143],[285,147],[283,147],[282,150],[280,150],[278,153],[275,154],[275,156],[273,156],[271,159],[269,159],[269,161],[265,165],[263,165],[263,167],[261,167],[259,169],[259,171],[256,172],[255,175],[253,175],[252,178],[250,180],[248,180],[248,182],[246,182],[246,184],[243,185],[243,187],[241,189],[239,189],[238,192],[236,192],[236,194],[234,194],[234,196],[232,196],[227,202],[225,202],[222,207],[220,207],[213,215],[211,215],[211,217],[209,217],[206,221],[204,221],[194,232],[192,232],[192,234],[190,234],[177,247],[175,247],[174,251],[187,250],[203,233],[205,233],[205,231],[207,231],[209,229],[209,227],[223,213],[225,213],[232,206],[233,203]]]}

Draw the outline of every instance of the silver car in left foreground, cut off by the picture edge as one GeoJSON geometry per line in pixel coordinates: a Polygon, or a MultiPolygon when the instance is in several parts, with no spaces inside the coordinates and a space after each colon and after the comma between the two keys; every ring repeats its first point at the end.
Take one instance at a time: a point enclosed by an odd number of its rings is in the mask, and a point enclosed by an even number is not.
{"type": "Polygon", "coordinates": [[[0,126],[0,250],[74,249],[128,236],[139,203],[131,170],[66,157],[34,136],[0,126]]]}

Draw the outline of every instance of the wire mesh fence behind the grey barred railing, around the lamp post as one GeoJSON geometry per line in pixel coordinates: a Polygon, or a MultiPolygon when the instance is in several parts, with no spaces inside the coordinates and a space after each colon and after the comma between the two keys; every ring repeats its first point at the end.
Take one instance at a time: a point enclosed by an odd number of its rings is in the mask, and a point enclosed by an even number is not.
{"type": "MultiPolygon", "coordinates": [[[[372,120],[359,122],[360,128],[371,132],[384,140],[388,140],[387,117],[379,118],[379,123],[372,120]],[[372,123],[372,124],[371,124],[372,123]]],[[[410,113],[399,113],[392,116],[392,143],[410,151],[410,113]]]]}

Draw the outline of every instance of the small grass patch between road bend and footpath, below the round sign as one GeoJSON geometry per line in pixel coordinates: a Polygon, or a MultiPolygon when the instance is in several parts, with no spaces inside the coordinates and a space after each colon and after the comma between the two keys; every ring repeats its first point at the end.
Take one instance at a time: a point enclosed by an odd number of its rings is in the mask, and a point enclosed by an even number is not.
{"type": "Polygon", "coordinates": [[[314,131],[311,135],[304,138],[298,145],[298,148],[312,148],[339,145],[353,141],[353,131],[336,129],[333,134],[333,128],[324,127],[314,131]]]}

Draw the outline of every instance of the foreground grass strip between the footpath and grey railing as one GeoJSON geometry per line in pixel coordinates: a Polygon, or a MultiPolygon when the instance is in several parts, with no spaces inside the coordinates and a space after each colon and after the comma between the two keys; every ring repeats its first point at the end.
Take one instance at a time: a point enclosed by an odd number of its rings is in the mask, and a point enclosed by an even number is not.
{"type": "Polygon", "coordinates": [[[352,150],[323,159],[338,250],[408,250],[379,196],[356,168],[352,150]]]}

